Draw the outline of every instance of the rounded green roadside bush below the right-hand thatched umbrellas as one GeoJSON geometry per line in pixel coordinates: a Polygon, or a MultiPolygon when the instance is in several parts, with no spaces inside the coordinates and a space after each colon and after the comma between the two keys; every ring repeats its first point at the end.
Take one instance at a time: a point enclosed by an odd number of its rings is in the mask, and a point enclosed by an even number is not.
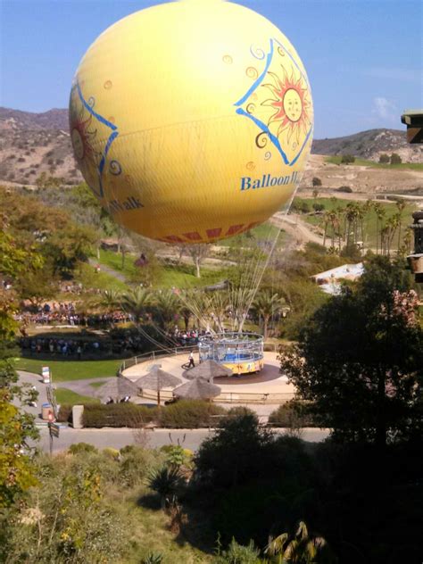
{"type": "Polygon", "coordinates": [[[223,413],[226,413],[226,410],[215,403],[180,400],[162,409],[160,423],[162,427],[171,428],[208,427],[211,415],[223,413]]]}

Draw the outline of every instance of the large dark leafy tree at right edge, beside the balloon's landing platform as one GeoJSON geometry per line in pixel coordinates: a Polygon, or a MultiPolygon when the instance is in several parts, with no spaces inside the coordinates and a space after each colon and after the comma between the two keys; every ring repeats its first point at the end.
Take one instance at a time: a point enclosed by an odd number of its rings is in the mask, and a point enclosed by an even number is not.
{"type": "Polygon", "coordinates": [[[383,446],[421,433],[423,331],[402,265],[374,257],[355,290],[307,319],[281,369],[322,427],[383,446]]]}

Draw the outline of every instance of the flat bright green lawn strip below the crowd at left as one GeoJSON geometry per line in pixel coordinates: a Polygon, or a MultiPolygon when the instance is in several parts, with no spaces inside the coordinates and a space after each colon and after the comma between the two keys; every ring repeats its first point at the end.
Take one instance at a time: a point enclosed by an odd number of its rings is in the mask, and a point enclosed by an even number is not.
{"type": "Polygon", "coordinates": [[[116,376],[123,361],[40,361],[20,358],[16,362],[17,370],[26,370],[41,374],[41,367],[48,366],[54,382],[83,380],[116,376]]]}

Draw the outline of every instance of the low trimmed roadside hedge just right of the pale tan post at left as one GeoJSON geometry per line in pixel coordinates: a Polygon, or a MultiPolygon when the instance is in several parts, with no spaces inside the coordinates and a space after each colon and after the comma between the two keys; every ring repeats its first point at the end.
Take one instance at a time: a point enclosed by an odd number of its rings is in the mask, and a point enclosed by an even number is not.
{"type": "Polygon", "coordinates": [[[82,415],[84,427],[144,427],[157,419],[157,409],[134,403],[91,403],[86,405],[82,415]]]}

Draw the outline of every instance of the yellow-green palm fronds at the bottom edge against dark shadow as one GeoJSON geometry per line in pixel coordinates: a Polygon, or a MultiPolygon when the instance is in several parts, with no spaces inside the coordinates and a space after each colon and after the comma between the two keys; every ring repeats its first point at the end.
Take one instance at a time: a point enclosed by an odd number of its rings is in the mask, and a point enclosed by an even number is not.
{"type": "Polygon", "coordinates": [[[265,552],[269,556],[279,555],[285,564],[336,564],[337,561],[326,540],[319,535],[309,535],[303,521],[291,539],[288,533],[270,537],[265,552]]]}

